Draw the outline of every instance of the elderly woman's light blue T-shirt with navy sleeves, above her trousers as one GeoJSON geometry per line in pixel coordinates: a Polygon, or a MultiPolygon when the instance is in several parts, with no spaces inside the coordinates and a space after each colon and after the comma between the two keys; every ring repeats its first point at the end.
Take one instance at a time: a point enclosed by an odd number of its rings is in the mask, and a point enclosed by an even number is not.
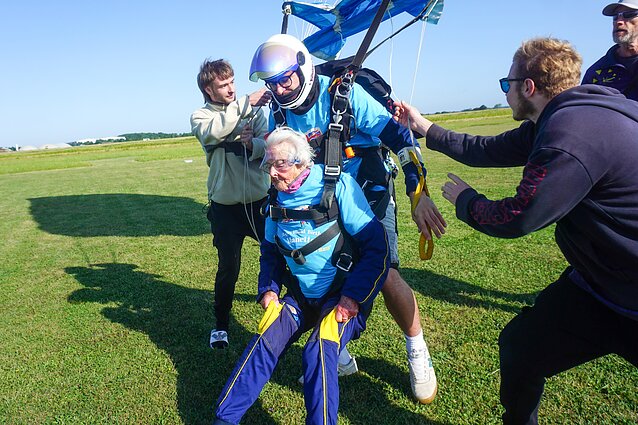
{"type": "MultiPolygon", "coordinates": [[[[314,165],[310,174],[294,193],[277,195],[277,204],[288,209],[307,209],[319,204],[323,193],[323,165],[314,165]]],[[[343,174],[337,183],[335,197],[344,229],[356,242],[359,261],[346,275],[341,294],[361,305],[366,305],[377,295],[388,272],[389,251],[383,225],[374,216],[356,181],[343,174]]],[[[298,279],[303,295],[321,298],[328,293],[336,267],[332,254],[337,237],[305,257],[303,265],[290,257],[283,257],[275,245],[275,235],[286,249],[300,249],[334,222],[316,226],[313,221],[279,220],[266,218],[266,235],[261,245],[258,299],[272,290],[279,294],[280,282],[287,265],[298,279]]]]}

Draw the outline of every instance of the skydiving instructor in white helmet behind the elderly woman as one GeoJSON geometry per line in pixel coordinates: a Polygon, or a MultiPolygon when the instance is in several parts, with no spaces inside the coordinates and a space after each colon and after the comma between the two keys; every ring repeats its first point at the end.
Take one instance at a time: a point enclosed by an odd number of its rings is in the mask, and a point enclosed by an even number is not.
{"type": "MultiPolygon", "coordinates": [[[[305,134],[315,149],[325,149],[333,109],[329,92],[331,79],[316,72],[310,53],[300,40],[277,34],[261,44],[253,56],[250,79],[264,80],[273,93],[271,129],[286,125],[305,134]]],[[[391,268],[381,291],[388,311],[405,335],[412,391],[417,400],[427,404],[434,400],[437,392],[436,376],[423,337],[416,298],[398,271],[395,204],[391,196],[385,196],[392,193],[393,181],[388,170],[379,166],[379,162],[383,164],[383,160],[379,160],[383,143],[398,155],[405,175],[406,194],[412,197],[419,181],[418,169],[405,159],[410,152],[420,158],[420,148],[416,142],[413,144],[409,130],[394,122],[384,105],[357,83],[352,85],[349,102],[353,116],[350,138],[339,145],[343,173],[354,177],[368,201],[375,203],[375,215],[388,234],[391,268]]],[[[423,172],[425,174],[425,169],[423,172]]],[[[431,237],[428,226],[436,237],[445,232],[445,220],[427,196],[420,198],[413,219],[428,238],[431,237]]],[[[344,352],[347,350],[343,349],[341,354],[344,352]]],[[[340,368],[343,360],[340,356],[340,368]]]]}

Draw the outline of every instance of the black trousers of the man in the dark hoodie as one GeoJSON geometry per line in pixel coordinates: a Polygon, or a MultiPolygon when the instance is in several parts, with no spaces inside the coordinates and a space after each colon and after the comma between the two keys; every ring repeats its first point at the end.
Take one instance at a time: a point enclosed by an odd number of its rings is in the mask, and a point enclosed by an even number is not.
{"type": "Polygon", "coordinates": [[[568,269],[501,332],[504,424],[537,424],[545,379],[615,353],[638,367],[638,321],[578,287],[568,269]]]}

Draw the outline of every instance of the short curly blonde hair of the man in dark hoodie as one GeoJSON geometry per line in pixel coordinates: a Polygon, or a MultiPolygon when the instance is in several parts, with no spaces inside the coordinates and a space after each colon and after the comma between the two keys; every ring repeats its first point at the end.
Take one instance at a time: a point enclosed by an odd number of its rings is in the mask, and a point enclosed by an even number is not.
{"type": "Polygon", "coordinates": [[[580,84],[582,57],[567,41],[533,38],[514,53],[517,78],[530,78],[539,92],[553,98],[580,84]]]}

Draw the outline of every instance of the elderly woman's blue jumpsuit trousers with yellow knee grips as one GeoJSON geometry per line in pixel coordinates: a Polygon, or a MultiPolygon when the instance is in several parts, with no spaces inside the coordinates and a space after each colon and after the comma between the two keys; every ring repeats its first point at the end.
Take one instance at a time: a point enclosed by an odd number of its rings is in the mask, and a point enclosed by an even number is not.
{"type": "MultiPolygon", "coordinates": [[[[237,362],[217,403],[215,424],[238,424],[257,400],[275,366],[302,334],[312,329],[303,349],[306,424],[336,424],[339,408],[337,360],[342,347],[365,330],[367,312],[345,323],[335,319],[339,295],[307,299],[286,295],[271,302],[237,362]]],[[[370,306],[371,307],[371,306],[370,306]]]]}

